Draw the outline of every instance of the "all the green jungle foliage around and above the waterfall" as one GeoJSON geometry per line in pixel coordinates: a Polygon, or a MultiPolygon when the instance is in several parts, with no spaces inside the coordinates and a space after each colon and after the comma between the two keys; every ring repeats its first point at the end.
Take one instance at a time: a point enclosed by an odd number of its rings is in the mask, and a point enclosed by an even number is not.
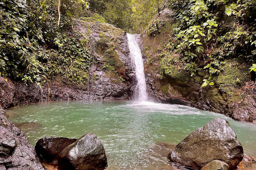
{"type": "Polygon", "coordinates": [[[204,72],[203,86],[211,85],[226,59],[239,58],[242,65],[235,64],[250,67],[256,78],[256,0],[2,0],[0,7],[0,74],[26,84],[41,86],[42,78],[57,75],[87,81],[90,40],[67,32],[76,19],[155,36],[165,24],[156,18],[164,8],[173,10],[173,30],[159,49],[162,74],[204,72]]]}

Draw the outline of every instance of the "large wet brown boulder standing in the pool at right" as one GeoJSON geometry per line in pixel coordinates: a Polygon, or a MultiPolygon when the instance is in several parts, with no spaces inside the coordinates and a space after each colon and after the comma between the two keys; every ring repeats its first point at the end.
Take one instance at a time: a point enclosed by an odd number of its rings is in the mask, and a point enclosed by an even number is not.
{"type": "Polygon", "coordinates": [[[243,159],[243,147],[226,120],[214,119],[183,139],[168,154],[172,162],[192,169],[201,169],[213,160],[220,160],[232,169],[243,159]]]}

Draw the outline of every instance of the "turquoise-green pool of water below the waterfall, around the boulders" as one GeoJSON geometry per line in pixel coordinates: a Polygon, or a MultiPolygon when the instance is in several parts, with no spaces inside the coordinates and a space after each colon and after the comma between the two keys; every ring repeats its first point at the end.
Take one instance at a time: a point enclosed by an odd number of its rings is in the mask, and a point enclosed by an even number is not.
{"type": "Polygon", "coordinates": [[[256,126],[195,108],[134,101],[54,102],[7,110],[29,141],[44,136],[79,138],[92,132],[104,144],[110,169],[173,169],[167,143],[178,144],[214,118],[229,121],[247,154],[256,156],[256,126]],[[40,123],[40,124],[39,124],[40,123]],[[31,125],[31,126],[30,126],[31,125]]]}

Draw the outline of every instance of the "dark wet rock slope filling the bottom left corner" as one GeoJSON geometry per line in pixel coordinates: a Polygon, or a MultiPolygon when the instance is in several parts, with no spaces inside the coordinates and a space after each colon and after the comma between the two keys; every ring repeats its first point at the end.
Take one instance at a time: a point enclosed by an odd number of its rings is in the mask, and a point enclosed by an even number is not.
{"type": "Polygon", "coordinates": [[[45,170],[24,132],[16,128],[0,106],[0,169],[45,170]]]}

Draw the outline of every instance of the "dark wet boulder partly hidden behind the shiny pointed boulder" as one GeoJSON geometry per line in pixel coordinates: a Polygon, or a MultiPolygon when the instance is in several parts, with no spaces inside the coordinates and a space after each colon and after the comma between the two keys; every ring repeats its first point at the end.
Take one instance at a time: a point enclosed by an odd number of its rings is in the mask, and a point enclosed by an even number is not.
{"type": "Polygon", "coordinates": [[[57,161],[59,153],[76,140],[66,137],[44,137],[36,142],[36,153],[42,160],[57,161]]]}

